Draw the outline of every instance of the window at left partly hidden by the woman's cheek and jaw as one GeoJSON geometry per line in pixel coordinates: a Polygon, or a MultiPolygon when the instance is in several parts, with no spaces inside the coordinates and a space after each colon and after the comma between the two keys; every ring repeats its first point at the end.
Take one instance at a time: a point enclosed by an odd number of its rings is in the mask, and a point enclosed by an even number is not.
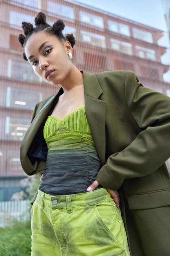
{"type": "Polygon", "coordinates": [[[28,82],[41,82],[42,80],[33,72],[33,67],[28,61],[8,60],[8,77],[28,82]]]}

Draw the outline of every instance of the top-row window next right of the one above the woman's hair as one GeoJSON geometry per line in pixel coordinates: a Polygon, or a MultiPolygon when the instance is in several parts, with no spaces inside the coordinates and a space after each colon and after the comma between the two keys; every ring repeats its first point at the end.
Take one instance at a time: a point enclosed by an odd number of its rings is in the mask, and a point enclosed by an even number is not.
{"type": "Polygon", "coordinates": [[[80,21],[95,27],[104,28],[103,18],[85,11],[79,11],[80,21]]]}

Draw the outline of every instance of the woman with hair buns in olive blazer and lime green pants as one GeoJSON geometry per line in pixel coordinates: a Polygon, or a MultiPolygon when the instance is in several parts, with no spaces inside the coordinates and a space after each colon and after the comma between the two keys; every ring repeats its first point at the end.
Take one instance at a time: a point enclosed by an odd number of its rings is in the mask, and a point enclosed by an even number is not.
{"type": "Polygon", "coordinates": [[[24,171],[41,176],[32,255],[126,256],[126,234],[132,256],[170,255],[170,98],[131,71],[78,71],[63,22],[39,13],[35,25],[22,23],[24,59],[61,89],[37,103],[21,145],[24,171]]]}

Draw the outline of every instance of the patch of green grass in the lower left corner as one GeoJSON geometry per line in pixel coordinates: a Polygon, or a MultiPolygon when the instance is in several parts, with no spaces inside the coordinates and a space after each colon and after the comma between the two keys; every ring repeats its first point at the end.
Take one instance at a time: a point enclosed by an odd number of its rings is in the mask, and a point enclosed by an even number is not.
{"type": "Polygon", "coordinates": [[[0,228],[0,256],[31,255],[31,222],[13,222],[0,228]]]}

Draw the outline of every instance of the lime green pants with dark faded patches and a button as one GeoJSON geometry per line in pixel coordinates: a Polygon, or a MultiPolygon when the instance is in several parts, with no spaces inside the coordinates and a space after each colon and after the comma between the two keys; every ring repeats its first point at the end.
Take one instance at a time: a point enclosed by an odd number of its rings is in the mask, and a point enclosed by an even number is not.
{"type": "Polygon", "coordinates": [[[105,188],[52,196],[31,209],[31,256],[130,256],[120,209],[105,188]]]}

